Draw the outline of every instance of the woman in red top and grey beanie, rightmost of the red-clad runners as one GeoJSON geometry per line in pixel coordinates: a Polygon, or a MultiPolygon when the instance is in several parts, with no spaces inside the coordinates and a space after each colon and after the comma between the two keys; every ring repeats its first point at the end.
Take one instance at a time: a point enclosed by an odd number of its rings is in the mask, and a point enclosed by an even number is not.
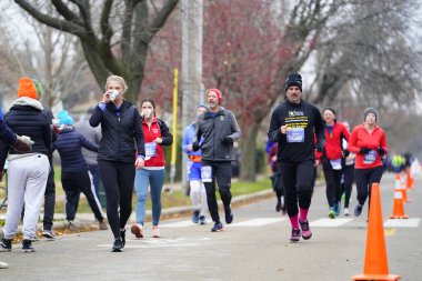
{"type": "Polygon", "coordinates": [[[358,188],[358,204],[354,215],[359,217],[369,197],[371,187],[380,182],[383,173],[381,158],[388,152],[385,132],[376,126],[378,112],[373,108],[365,109],[364,122],[355,127],[350,137],[348,150],[356,153],[354,177],[358,188]]]}

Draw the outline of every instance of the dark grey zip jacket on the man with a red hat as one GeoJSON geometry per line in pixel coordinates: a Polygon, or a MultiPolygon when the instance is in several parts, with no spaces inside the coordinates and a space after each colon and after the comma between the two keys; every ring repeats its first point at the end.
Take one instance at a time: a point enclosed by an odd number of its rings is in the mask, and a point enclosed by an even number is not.
{"type": "Polygon", "coordinates": [[[240,129],[234,114],[222,107],[215,117],[210,111],[198,117],[198,127],[194,140],[200,140],[202,160],[208,161],[234,161],[233,141],[240,138],[240,129]],[[232,141],[224,141],[230,138],[232,141]]]}

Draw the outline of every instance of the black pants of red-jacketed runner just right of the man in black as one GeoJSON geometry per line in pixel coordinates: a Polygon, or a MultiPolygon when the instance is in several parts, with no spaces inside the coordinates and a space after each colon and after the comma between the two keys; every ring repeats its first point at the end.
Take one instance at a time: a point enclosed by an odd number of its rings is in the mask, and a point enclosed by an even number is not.
{"type": "Polygon", "coordinates": [[[329,202],[329,207],[332,208],[341,200],[341,175],[343,171],[334,170],[326,158],[322,159],[322,170],[324,171],[326,184],[326,201],[329,202]]]}

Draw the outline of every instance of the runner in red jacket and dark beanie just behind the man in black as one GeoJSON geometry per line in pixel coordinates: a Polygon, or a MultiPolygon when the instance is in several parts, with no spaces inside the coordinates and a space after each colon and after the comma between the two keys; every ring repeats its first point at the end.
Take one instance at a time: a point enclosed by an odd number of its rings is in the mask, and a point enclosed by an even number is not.
{"type": "Polygon", "coordinates": [[[341,175],[343,173],[343,139],[349,141],[349,131],[343,123],[335,120],[335,111],[325,108],[322,112],[324,120],[325,145],[321,157],[322,170],[326,183],[326,200],[330,211],[329,218],[340,214],[341,175]]]}

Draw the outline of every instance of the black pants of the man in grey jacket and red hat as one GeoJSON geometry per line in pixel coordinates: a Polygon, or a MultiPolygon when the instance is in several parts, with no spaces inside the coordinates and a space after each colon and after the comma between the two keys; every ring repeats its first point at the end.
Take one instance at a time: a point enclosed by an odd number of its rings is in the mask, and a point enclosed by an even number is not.
{"type": "Polygon", "coordinates": [[[208,209],[212,221],[220,222],[219,205],[215,198],[215,181],[219,184],[219,192],[221,201],[223,201],[224,209],[230,207],[231,203],[231,162],[214,162],[202,161],[202,167],[211,167],[212,182],[204,182],[207,190],[208,209]]]}

